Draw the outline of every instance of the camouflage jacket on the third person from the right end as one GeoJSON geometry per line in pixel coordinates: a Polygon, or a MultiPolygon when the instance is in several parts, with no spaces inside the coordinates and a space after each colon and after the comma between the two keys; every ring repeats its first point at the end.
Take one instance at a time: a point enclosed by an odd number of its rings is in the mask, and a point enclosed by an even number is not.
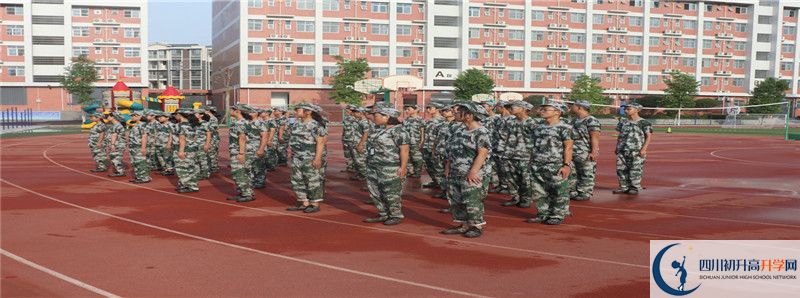
{"type": "Polygon", "coordinates": [[[564,142],[572,139],[572,126],[568,124],[539,125],[533,131],[533,163],[563,164],[564,142]]]}

